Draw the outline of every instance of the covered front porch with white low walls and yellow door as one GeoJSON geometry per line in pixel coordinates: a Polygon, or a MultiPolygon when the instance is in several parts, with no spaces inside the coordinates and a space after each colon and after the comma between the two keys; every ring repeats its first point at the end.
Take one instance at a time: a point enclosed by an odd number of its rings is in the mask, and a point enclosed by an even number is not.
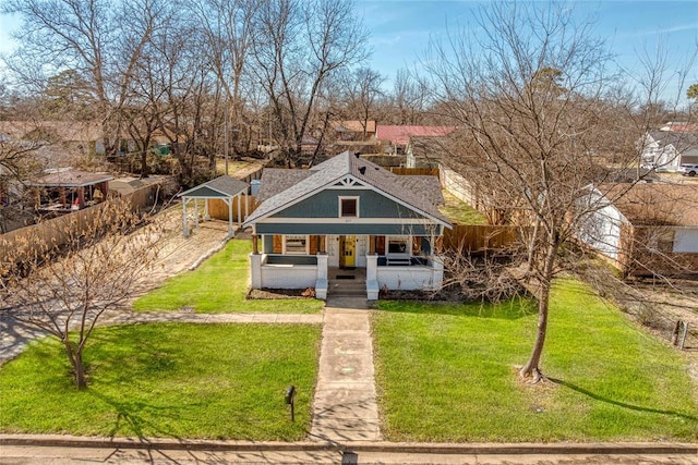
{"type": "Polygon", "coordinates": [[[377,299],[382,289],[438,290],[443,282],[440,244],[433,235],[255,234],[250,255],[252,287],[313,287],[316,297],[324,299],[330,289],[341,287],[342,277],[358,274],[369,299],[377,299]]]}

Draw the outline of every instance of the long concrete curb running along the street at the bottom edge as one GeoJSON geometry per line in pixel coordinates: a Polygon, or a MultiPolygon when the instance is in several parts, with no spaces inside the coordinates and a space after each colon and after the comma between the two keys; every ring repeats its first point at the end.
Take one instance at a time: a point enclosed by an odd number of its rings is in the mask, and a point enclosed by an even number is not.
{"type": "Polygon", "coordinates": [[[192,451],[353,451],[454,455],[645,454],[698,455],[698,444],[653,442],[607,443],[422,443],[422,442],[280,442],[215,441],[148,438],[100,438],[61,435],[0,435],[0,445],[93,449],[158,449],[192,451]]]}

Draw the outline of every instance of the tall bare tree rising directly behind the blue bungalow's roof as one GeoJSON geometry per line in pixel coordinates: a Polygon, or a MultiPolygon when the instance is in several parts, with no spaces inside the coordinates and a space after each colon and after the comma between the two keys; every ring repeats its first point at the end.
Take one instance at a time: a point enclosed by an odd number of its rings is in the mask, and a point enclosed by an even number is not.
{"type": "Polygon", "coordinates": [[[315,113],[323,84],[366,57],[365,37],[350,1],[262,3],[255,17],[255,73],[289,164],[300,160],[304,139],[324,127],[315,113]]]}

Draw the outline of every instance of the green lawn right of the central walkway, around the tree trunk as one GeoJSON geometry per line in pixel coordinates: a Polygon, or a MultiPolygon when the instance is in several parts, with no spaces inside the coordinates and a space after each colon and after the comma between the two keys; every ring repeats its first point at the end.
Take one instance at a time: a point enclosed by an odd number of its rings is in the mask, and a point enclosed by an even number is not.
{"type": "Polygon", "coordinates": [[[698,408],[681,354],[588,289],[552,296],[544,372],[517,378],[531,351],[530,302],[381,302],[376,380],[392,441],[696,440],[698,408]]]}

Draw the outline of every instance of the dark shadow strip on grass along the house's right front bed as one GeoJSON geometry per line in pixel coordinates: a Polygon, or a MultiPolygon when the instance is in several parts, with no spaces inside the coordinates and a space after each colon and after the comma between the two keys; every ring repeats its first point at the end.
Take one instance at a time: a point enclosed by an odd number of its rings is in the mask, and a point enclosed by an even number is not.
{"type": "Polygon", "coordinates": [[[500,304],[384,301],[378,305],[378,309],[382,311],[398,314],[445,315],[503,320],[517,320],[538,313],[535,303],[530,298],[514,298],[500,304]]]}

